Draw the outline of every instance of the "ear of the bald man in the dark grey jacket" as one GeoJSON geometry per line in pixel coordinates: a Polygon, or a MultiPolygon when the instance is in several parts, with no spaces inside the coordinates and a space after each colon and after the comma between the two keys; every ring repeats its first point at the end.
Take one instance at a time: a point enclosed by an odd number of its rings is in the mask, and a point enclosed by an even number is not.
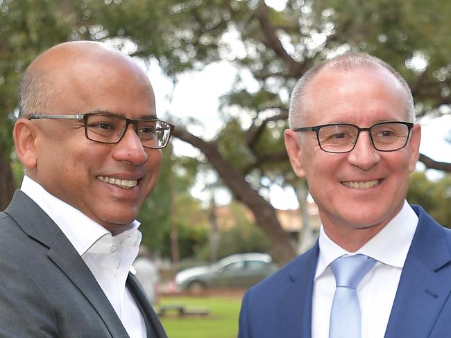
{"type": "Polygon", "coordinates": [[[16,146],[17,158],[26,170],[33,170],[37,165],[35,126],[30,120],[19,118],[15,123],[12,137],[16,146]]]}

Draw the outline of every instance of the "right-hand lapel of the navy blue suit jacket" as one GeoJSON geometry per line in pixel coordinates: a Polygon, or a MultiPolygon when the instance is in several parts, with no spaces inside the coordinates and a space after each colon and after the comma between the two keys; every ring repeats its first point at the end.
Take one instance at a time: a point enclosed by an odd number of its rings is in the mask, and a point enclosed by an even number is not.
{"type": "Polygon", "coordinates": [[[450,245],[445,229],[413,206],[418,227],[402,269],[386,338],[429,337],[451,292],[450,245]]]}

